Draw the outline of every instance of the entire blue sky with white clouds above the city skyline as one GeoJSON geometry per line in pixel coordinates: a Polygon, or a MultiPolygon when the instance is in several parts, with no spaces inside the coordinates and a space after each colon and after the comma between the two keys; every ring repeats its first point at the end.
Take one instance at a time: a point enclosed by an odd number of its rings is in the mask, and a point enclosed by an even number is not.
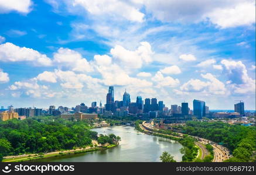
{"type": "Polygon", "coordinates": [[[72,107],[124,90],[255,110],[254,0],[0,0],[0,106],[72,107]]]}

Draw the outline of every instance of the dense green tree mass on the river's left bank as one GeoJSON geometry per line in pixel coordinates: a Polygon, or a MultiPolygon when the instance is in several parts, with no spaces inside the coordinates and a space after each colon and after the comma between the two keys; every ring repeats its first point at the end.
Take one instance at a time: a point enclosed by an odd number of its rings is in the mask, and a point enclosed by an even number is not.
{"type": "Polygon", "coordinates": [[[0,152],[5,155],[52,152],[90,145],[97,132],[87,122],[59,117],[33,117],[0,122],[0,152]]]}

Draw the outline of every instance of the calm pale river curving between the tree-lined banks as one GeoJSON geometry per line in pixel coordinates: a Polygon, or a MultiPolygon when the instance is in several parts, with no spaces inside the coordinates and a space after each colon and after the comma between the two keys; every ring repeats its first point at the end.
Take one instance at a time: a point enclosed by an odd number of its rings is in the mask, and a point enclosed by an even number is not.
{"type": "Polygon", "coordinates": [[[94,128],[98,134],[115,134],[121,137],[120,145],[114,148],[87,152],[76,155],[49,157],[42,162],[161,162],[159,156],[168,151],[178,162],[182,160],[177,141],[147,135],[136,131],[134,127],[117,126],[94,128]]]}

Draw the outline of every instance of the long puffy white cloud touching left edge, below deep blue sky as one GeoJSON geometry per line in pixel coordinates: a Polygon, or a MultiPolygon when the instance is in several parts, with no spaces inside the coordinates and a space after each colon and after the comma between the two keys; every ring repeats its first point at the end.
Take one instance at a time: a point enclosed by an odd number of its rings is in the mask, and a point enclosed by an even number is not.
{"type": "Polygon", "coordinates": [[[0,61],[31,61],[35,66],[50,66],[52,61],[45,54],[32,48],[19,47],[12,43],[0,44],[0,61]]]}

